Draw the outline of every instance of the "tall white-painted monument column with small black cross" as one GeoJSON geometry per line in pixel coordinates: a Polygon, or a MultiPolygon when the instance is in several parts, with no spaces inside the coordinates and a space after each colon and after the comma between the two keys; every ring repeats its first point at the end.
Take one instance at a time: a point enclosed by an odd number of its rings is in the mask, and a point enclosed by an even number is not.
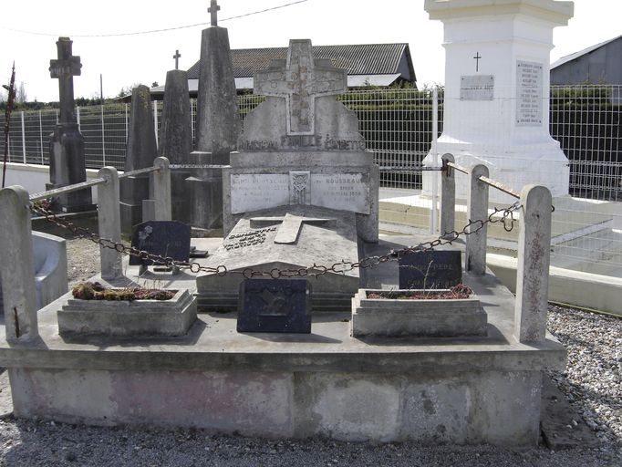
{"type": "MultiPolygon", "coordinates": [[[[527,183],[568,194],[569,166],[549,133],[553,28],[573,16],[573,2],[554,0],[426,0],[444,26],[445,96],[439,154],[485,164],[492,179],[518,192],[527,183]]],[[[424,164],[434,162],[429,154],[424,164]]],[[[430,194],[435,172],[424,172],[430,194]]],[[[465,200],[467,177],[456,177],[465,200]]],[[[491,202],[512,202],[498,190],[491,202]]]]}

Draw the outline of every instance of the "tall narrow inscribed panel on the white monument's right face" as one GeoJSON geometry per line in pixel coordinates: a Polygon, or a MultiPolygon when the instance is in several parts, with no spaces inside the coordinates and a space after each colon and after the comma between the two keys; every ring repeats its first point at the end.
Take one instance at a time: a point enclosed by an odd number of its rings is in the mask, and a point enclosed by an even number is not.
{"type": "Polygon", "coordinates": [[[542,63],[516,62],[516,125],[542,125],[542,63]]]}

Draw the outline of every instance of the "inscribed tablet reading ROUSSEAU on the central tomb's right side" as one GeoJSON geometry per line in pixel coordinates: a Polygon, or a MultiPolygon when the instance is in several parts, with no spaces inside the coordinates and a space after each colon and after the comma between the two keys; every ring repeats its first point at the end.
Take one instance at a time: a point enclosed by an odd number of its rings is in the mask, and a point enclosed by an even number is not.
{"type": "Polygon", "coordinates": [[[368,214],[369,185],[362,173],[312,173],[311,204],[368,214]]]}

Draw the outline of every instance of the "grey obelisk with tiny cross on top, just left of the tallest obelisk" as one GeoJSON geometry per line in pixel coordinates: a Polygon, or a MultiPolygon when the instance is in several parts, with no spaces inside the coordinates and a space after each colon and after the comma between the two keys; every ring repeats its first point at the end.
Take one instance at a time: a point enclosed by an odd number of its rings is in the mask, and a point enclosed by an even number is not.
{"type": "MultiPolygon", "coordinates": [[[[176,51],[175,69],[166,74],[158,154],[171,164],[188,164],[192,150],[190,96],[188,73],[177,69],[179,57],[176,51]]],[[[171,171],[171,213],[172,218],[181,223],[190,223],[191,200],[185,182],[190,175],[190,171],[171,171]]]]}

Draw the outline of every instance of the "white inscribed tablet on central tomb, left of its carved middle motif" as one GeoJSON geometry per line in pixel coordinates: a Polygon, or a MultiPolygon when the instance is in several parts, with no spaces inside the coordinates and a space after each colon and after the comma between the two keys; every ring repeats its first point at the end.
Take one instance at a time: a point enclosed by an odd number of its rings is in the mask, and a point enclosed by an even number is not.
{"type": "Polygon", "coordinates": [[[231,212],[247,213],[289,204],[289,174],[241,173],[231,176],[231,212]]]}

